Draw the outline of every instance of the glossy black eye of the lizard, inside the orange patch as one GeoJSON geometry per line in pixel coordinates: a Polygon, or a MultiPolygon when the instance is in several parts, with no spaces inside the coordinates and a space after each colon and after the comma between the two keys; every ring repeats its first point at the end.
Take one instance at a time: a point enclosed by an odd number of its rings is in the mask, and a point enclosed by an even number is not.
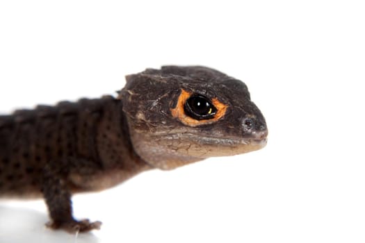
{"type": "Polygon", "coordinates": [[[217,108],[208,98],[200,94],[193,94],[186,100],[184,112],[197,120],[212,119],[216,115],[217,108]]]}

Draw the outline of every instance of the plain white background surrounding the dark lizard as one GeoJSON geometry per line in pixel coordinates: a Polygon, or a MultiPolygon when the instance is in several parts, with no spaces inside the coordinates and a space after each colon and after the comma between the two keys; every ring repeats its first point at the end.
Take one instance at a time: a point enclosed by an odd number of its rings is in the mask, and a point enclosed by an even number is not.
{"type": "MultiPolygon", "coordinates": [[[[241,79],[268,145],[74,196],[76,242],[365,242],[362,1],[1,1],[0,111],[114,94],[206,65],[241,79]]],[[[75,242],[42,201],[0,201],[0,242],[75,242]]]]}

